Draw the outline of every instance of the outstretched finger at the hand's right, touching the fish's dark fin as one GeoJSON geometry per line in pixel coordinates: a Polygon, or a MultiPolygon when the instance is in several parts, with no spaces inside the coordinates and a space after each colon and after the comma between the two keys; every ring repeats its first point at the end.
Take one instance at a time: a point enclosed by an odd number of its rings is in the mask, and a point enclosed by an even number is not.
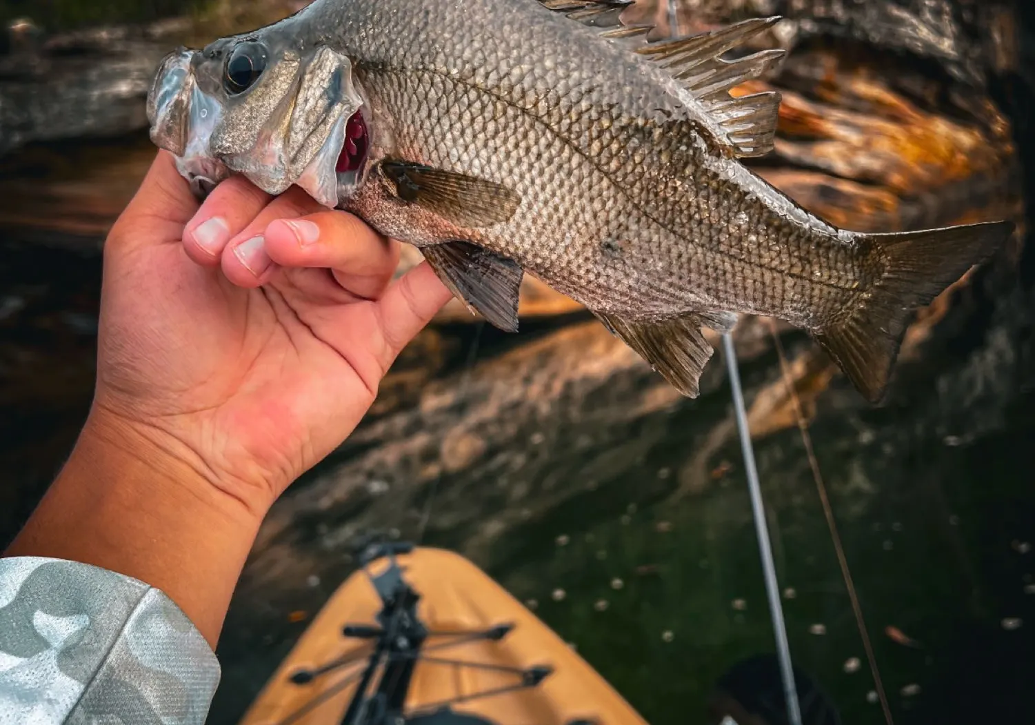
{"type": "Polygon", "coordinates": [[[385,371],[450,297],[452,293],[427,262],[421,262],[388,288],[376,302],[385,341],[385,371]]]}

